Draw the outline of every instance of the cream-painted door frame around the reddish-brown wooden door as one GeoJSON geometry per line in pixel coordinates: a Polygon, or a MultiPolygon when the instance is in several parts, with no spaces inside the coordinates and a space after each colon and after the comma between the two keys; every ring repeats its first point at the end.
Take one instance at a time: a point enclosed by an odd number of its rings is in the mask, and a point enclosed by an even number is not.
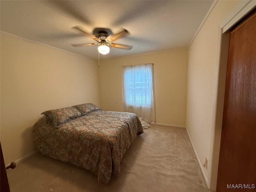
{"type": "Polygon", "coordinates": [[[206,183],[208,188],[213,191],[216,191],[217,186],[230,28],[232,28],[232,26],[244,18],[244,16],[246,16],[255,7],[255,0],[242,1],[219,26],[218,50],[214,82],[212,132],[208,165],[209,172],[208,180],[206,183]]]}

